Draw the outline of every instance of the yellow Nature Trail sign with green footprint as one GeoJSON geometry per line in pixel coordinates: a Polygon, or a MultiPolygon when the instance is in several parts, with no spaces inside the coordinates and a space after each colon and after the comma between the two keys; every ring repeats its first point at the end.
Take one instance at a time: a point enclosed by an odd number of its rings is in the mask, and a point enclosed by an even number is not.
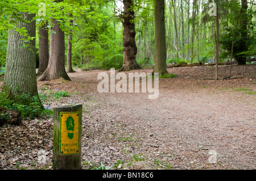
{"type": "Polygon", "coordinates": [[[79,153],[79,112],[60,112],[60,155],[79,153]]]}

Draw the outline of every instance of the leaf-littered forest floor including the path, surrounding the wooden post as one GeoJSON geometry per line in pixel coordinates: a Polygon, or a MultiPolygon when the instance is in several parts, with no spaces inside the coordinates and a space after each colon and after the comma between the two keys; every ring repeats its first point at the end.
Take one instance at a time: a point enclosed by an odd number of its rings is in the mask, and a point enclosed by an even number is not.
{"type": "MultiPolygon", "coordinates": [[[[243,78],[218,81],[204,79],[214,78],[214,66],[170,68],[179,76],[159,80],[157,99],[100,93],[97,75],[110,71],[76,71],[68,74],[72,81],[38,82],[38,90],[71,95],[48,96],[45,107],[83,104],[83,169],[101,162],[112,169],[256,169],[256,65],[233,66],[233,77],[243,78]]],[[[220,78],[228,71],[219,66],[220,78]]],[[[52,169],[52,133],[52,118],[3,125],[0,169],[52,169]]]]}

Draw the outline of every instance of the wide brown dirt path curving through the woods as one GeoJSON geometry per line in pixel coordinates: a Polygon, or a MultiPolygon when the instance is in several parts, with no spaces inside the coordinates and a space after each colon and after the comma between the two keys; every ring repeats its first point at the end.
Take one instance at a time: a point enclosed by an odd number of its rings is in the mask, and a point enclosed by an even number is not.
{"type": "MultiPolygon", "coordinates": [[[[97,90],[97,74],[94,71],[70,76],[97,90]]],[[[123,124],[124,130],[119,130],[125,133],[123,137],[137,134],[139,138],[131,138],[131,142],[136,140],[138,145],[141,139],[141,145],[133,150],[134,143],[125,142],[129,145],[127,150],[132,150],[131,155],[148,157],[148,161],[168,165],[167,160],[180,168],[255,169],[255,94],[234,91],[241,87],[255,91],[254,81],[161,79],[158,99],[148,99],[146,93],[97,94],[96,91],[96,100],[104,105],[90,113],[94,120],[98,117],[99,127],[113,119],[123,124]],[[217,164],[208,164],[211,150],[217,154],[214,162],[217,164]]],[[[92,124],[88,126],[90,130],[95,122],[88,122],[92,124]]],[[[105,131],[111,132],[108,128],[105,131]]],[[[114,146],[115,143],[111,147],[114,146]]],[[[102,159],[102,155],[94,158],[102,159]]]]}

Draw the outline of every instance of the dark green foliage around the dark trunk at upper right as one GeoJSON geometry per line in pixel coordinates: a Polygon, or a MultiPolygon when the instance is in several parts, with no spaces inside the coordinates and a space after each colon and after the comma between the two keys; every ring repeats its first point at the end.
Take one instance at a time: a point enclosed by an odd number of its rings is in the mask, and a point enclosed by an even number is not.
{"type": "MultiPolygon", "coordinates": [[[[247,16],[251,17],[251,20],[247,18],[247,37],[241,35],[242,30],[241,21],[244,14],[240,14],[241,5],[239,2],[234,1],[233,3],[228,3],[226,5],[230,11],[229,14],[225,15],[225,21],[223,21],[223,28],[221,29],[220,44],[223,49],[221,52],[221,57],[230,58],[232,51],[232,41],[234,36],[234,45],[233,45],[233,58],[238,57],[251,57],[256,54],[256,37],[255,32],[253,31],[255,27],[255,19],[252,18],[255,16],[256,11],[253,9],[247,9],[247,16]],[[240,18],[240,19],[238,19],[240,18]],[[237,28],[236,28],[237,25],[237,28]],[[241,50],[241,44],[243,41],[246,41],[247,50],[241,50]]],[[[245,22],[243,22],[245,23],[245,22]]]]}

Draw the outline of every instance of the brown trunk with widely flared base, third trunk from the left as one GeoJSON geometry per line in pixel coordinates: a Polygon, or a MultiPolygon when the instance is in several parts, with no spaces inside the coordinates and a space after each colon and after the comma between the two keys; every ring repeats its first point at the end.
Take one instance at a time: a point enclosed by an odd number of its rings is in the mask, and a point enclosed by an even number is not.
{"type": "MultiPolygon", "coordinates": [[[[56,2],[63,2],[63,0],[56,2]]],[[[61,30],[58,20],[52,19],[51,24],[53,27],[51,27],[50,35],[49,63],[38,81],[50,81],[58,78],[71,81],[65,70],[65,33],[61,30]]]]}

